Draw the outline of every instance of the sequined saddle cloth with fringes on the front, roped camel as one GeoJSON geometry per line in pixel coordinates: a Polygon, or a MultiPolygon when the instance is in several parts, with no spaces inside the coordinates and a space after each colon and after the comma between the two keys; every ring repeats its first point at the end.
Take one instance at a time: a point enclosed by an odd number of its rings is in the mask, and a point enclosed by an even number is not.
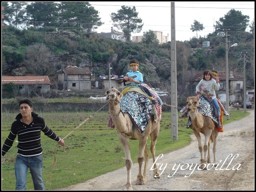
{"type": "MultiPolygon", "coordinates": [[[[142,85],[147,86],[146,84],[142,85]]],[[[151,90],[151,88],[147,88],[149,91],[151,91],[153,98],[157,100],[157,93],[151,90]]],[[[155,122],[160,120],[162,106],[159,104],[159,102],[152,104],[152,101],[149,99],[148,95],[145,94],[141,88],[125,88],[122,93],[124,96],[121,99],[120,108],[123,113],[128,113],[140,133],[143,133],[143,131],[146,129],[152,114],[154,114],[155,122]]],[[[109,117],[108,127],[114,128],[111,117],[109,117]]]]}

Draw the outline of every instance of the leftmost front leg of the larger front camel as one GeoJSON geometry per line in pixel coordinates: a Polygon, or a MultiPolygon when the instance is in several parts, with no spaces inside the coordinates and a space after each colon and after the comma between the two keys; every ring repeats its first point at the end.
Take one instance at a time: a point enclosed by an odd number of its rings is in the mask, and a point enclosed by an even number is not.
{"type": "Polygon", "coordinates": [[[122,147],[125,151],[125,166],[127,169],[127,183],[125,186],[128,190],[133,190],[131,185],[131,168],[132,168],[132,160],[131,160],[131,152],[128,138],[125,138],[121,133],[118,132],[119,140],[122,144],[122,147]]]}

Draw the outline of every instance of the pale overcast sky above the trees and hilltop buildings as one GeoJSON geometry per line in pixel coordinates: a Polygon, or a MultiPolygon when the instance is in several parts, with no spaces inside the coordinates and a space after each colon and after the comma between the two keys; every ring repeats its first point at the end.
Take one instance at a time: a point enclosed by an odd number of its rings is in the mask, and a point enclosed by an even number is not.
{"type": "MultiPolygon", "coordinates": [[[[143,35],[143,32],[162,31],[164,36],[169,36],[171,40],[171,1],[154,1],[154,2],[134,2],[134,1],[117,1],[117,2],[100,2],[89,1],[89,3],[99,11],[99,17],[105,24],[100,26],[96,31],[111,32],[113,23],[110,18],[111,13],[117,13],[121,6],[135,6],[138,17],[142,19],[144,25],[140,33],[132,36],[143,35]]],[[[198,31],[198,37],[206,37],[207,34],[214,31],[213,25],[221,17],[224,17],[231,9],[241,11],[243,15],[250,17],[250,22],[254,19],[254,1],[240,2],[175,2],[175,35],[177,41],[189,40],[196,37],[196,31],[190,30],[194,20],[204,25],[203,31],[198,31]]],[[[114,27],[114,29],[117,29],[114,27]]],[[[117,29],[118,30],[118,29],[117,29]]],[[[250,28],[247,28],[249,31],[250,28]]],[[[121,31],[121,30],[119,30],[121,31]]]]}

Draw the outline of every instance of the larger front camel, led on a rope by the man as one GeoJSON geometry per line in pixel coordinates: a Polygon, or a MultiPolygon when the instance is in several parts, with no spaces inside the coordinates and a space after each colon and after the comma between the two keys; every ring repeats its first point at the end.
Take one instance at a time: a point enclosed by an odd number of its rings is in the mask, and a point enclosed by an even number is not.
{"type": "MultiPolygon", "coordinates": [[[[112,118],[112,121],[117,129],[117,133],[119,139],[121,141],[122,147],[125,151],[125,165],[127,169],[127,183],[125,184],[126,189],[133,190],[131,184],[131,168],[132,168],[132,160],[131,160],[131,152],[129,146],[129,139],[137,139],[139,140],[139,155],[137,158],[139,164],[139,172],[137,175],[136,185],[144,185],[147,181],[147,167],[148,167],[148,147],[147,141],[148,136],[151,137],[151,154],[153,158],[153,162],[155,162],[155,145],[157,142],[157,137],[160,130],[160,121],[155,122],[153,115],[151,115],[150,121],[145,129],[145,131],[141,134],[140,131],[134,127],[134,123],[129,117],[128,113],[123,113],[119,102],[122,99],[123,94],[120,93],[116,88],[112,88],[106,91],[106,99],[109,103],[109,113],[112,118]],[[144,155],[143,155],[144,154],[144,155]],[[145,161],[144,170],[142,173],[142,164],[143,160],[145,161]]],[[[160,178],[160,173],[156,165],[154,164],[154,178],[160,178]]]]}

